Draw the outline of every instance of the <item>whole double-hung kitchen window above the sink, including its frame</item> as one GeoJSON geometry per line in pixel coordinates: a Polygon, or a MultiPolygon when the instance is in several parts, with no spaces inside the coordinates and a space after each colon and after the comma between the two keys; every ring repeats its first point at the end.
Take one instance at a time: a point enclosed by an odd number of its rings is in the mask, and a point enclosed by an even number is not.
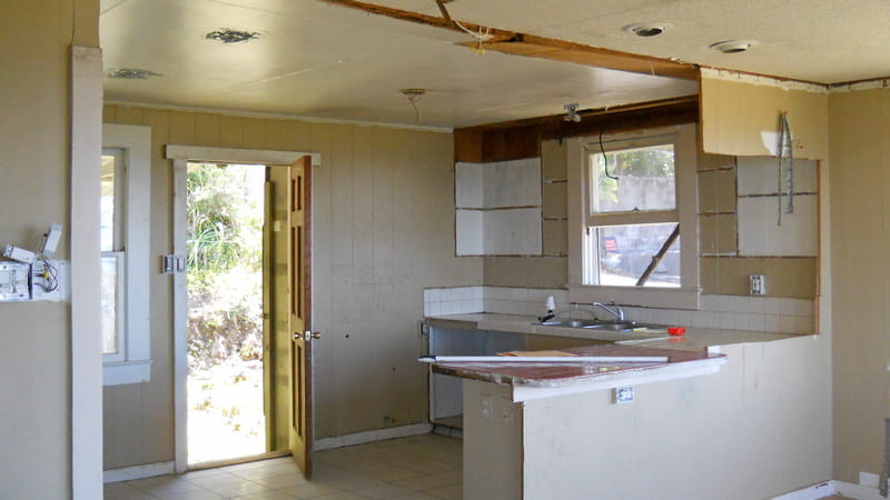
{"type": "Polygon", "coordinates": [[[698,307],[695,127],[570,144],[570,300],[698,307]]]}

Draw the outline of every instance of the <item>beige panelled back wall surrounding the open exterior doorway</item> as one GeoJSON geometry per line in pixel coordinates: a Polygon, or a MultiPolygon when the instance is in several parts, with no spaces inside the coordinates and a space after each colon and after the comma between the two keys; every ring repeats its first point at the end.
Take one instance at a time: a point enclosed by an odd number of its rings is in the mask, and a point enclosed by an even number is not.
{"type": "MultiPolygon", "coordinates": [[[[105,121],[151,127],[151,258],[171,249],[164,144],[322,153],[313,178],[316,438],[425,422],[416,362],[423,288],[482,283],[454,257],[447,133],[108,106],[105,121]]],[[[174,458],[171,283],[152,272],[151,381],[107,388],[106,468],[174,458]]]]}

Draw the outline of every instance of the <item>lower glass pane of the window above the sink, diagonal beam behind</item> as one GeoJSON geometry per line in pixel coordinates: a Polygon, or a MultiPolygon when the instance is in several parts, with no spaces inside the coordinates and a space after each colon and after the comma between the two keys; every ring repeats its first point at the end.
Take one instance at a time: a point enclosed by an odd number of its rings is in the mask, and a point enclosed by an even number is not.
{"type": "MultiPolygon", "coordinates": [[[[636,281],[659,253],[676,222],[659,224],[604,226],[591,228],[589,269],[594,269],[594,282],[634,287],[636,281]]],[[[680,238],[674,240],[659,266],[650,274],[645,287],[680,287],[680,238]]]]}

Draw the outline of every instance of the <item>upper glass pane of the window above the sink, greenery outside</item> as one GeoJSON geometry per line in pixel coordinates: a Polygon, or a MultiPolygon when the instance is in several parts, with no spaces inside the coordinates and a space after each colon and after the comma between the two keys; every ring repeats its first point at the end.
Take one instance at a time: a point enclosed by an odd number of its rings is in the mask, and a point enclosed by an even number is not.
{"type": "Polygon", "coordinates": [[[591,154],[589,179],[591,213],[676,207],[673,144],[591,154]]]}

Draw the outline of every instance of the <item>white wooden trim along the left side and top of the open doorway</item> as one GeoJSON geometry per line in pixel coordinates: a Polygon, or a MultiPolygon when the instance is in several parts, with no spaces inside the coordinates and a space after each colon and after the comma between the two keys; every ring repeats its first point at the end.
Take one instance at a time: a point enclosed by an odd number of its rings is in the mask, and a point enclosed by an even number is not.
{"type": "MultiPolygon", "coordinates": [[[[211,148],[202,146],[167,144],[165,157],[172,160],[172,232],[175,256],[188,254],[186,178],[188,163],[195,161],[221,163],[249,163],[289,166],[299,158],[312,157],[312,166],[322,164],[322,154],[305,151],[274,151],[264,149],[211,148]]],[[[188,290],[185,272],[174,274],[174,452],[177,473],[188,470],[188,290]]]]}

